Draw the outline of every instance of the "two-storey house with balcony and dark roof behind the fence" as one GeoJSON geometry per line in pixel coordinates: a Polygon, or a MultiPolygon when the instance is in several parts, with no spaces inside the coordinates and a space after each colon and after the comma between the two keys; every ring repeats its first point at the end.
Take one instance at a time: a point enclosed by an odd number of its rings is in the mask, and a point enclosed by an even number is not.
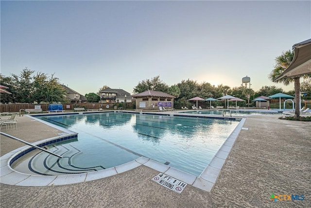
{"type": "Polygon", "coordinates": [[[106,88],[99,91],[101,96],[101,103],[131,103],[132,96],[130,93],[122,89],[106,88]]]}

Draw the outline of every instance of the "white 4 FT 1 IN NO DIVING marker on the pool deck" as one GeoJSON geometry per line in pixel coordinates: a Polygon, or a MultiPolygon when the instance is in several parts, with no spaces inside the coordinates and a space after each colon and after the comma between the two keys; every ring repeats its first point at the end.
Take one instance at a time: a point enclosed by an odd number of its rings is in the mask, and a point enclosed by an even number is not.
{"type": "Polygon", "coordinates": [[[187,186],[185,182],[179,181],[161,172],[153,177],[152,180],[177,193],[181,193],[187,186]]]}

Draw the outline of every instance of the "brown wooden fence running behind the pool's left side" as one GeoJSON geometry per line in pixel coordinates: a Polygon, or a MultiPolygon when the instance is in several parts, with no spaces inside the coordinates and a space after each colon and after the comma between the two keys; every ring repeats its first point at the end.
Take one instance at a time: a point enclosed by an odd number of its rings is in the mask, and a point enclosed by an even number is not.
{"type": "MultiPolygon", "coordinates": [[[[114,109],[114,106],[118,106],[119,103],[79,103],[79,104],[62,104],[63,110],[73,111],[73,108],[85,108],[87,109],[114,109]],[[109,108],[107,108],[107,105],[109,108]]],[[[35,106],[39,105],[42,111],[48,111],[49,105],[46,104],[1,104],[0,112],[17,113],[20,109],[34,109],[35,106]]],[[[124,106],[124,103],[122,103],[124,106]]],[[[123,107],[124,108],[124,107],[123,107]]],[[[131,109],[132,103],[126,103],[126,109],[131,109]]]]}

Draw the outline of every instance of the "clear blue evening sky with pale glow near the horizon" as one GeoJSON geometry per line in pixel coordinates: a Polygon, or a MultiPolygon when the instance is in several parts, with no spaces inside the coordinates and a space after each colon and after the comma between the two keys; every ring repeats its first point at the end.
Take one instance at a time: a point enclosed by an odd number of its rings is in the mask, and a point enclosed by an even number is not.
{"type": "MultiPolygon", "coordinates": [[[[3,76],[28,67],[85,95],[132,94],[160,76],[294,90],[268,79],[275,58],[311,38],[311,1],[0,1],[3,76]]],[[[199,95],[198,95],[199,96],[199,95]]]]}

